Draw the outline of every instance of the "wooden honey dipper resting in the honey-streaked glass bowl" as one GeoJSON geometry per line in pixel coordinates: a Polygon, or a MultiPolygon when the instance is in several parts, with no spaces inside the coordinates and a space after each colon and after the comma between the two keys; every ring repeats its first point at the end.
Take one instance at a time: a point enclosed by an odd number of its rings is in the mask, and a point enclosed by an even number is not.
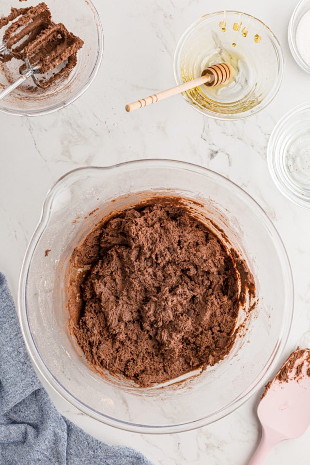
{"type": "Polygon", "coordinates": [[[229,80],[231,77],[232,71],[228,64],[226,63],[217,63],[209,66],[202,71],[202,75],[200,78],[192,79],[184,84],[180,84],[179,86],[171,87],[171,89],[167,89],[166,91],[158,92],[149,97],[141,98],[141,100],[137,100],[136,102],[129,103],[125,106],[126,111],[137,110],[142,107],[146,107],[147,105],[151,105],[152,103],[156,103],[159,100],[163,100],[164,98],[171,97],[172,95],[177,95],[178,93],[189,91],[194,87],[201,86],[205,84],[208,87],[218,86],[219,84],[224,84],[229,80]]]}

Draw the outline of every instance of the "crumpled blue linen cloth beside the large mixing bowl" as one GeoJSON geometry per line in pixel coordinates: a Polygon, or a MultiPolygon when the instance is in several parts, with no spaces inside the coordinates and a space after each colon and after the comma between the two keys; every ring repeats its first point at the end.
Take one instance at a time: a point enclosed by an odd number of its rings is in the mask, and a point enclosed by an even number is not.
{"type": "MultiPolygon", "coordinates": [[[[116,430],[117,431],[117,430],[116,430]]],[[[0,273],[0,465],[152,465],[62,417],[40,384],[0,273]]]]}

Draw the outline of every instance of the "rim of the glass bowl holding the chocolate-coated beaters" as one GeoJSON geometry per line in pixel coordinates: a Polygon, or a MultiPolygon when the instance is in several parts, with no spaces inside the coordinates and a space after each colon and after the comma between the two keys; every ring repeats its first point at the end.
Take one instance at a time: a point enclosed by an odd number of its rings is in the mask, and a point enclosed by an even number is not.
{"type": "Polygon", "coordinates": [[[93,13],[95,15],[94,21],[96,23],[96,30],[97,30],[97,38],[98,38],[98,44],[97,44],[97,52],[96,52],[96,58],[94,62],[93,69],[87,78],[86,81],[84,81],[83,84],[80,85],[79,89],[77,92],[73,93],[69,98],[62,100],[56,105],[50,105],[45,108],[41,109],[10,109],[10,108],[3,108],[1,106],[0,102],[0,111],[2,113],[14,115],[14,116],[44,116],[48,115],[50,113],[54,113],[55,111],[58,111],[62,108],[67,107],[71,103],[75,102],[87,89],[90,87],[92,84],[94,78],[96,77],[100,64],[102,62],[102,57],[103,57],[103,48],[104,48],[104,39],[103,39],[103,28],[102,28],[102,23],[100,20],[99,13],[96,9],[96,7],[93,4],[92,0],[87,0],[86,1],[87,5],[93,9],[93,13]]]}

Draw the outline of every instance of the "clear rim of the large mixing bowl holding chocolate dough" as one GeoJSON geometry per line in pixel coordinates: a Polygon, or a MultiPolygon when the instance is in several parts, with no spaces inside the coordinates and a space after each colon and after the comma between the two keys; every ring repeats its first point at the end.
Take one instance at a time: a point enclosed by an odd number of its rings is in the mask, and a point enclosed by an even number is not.
{"type": "Polygon", "coordinates": [[[47,385],[51,387],[54,391],[61,396],[62,399],[66,400],[71,405],[78,408],[78,410],[82,411],[89,417],[97,419],[104,424],[108,424],[109,426],[114,426],[119,429],[123,429],[126,431],[131,431],[134,433],[142,433],[142,434],[171,434],[171,433],[180,433],[184,431],[193,430],[196,428],[200,428],[202,426],[206,426],[210,423],[217,421],[220,418],[225,417],[226,415],[232,413],[236,408],[240,405],[245,403],[252,395],[254,395],[263,385],[268,376],[275,370],[277,364],[279,362],[279,358],[284,350],[285,344],[288,339],[288,335],[290,332],[292,318],[293,318],[293,309],[294,309],[294,284],[293,284],[293,277],[292,277],[292,270],[291,265],[288,259],[288,255],[284,244],[279,236],[278,231],[276,230],[275,226],[273,225],[272,221],[269,217],[267,217],[266,213],[264,212],[263,208],[241,187],[237,186],[233,181],[230,181],[226,177],[218,174],[215,171],[209,170],[207,168],[203,168],[202,166],[195,165],[192,163],[187,163],[183,161],[177,160],[169,160],[169,159],[142,159],[142,160],[133,160],[127,161],[124,163],[111,165],[108,167],[82,167],[77,168],[72,171],[68,171],[65,173],[59,180],[51,187],[51,189],[47,192],[47,196],[43,203],[41,218],[38,223],[37,228],[35,229],[28,248],[26,250],[26,254],[23,260],[19,284],[18,284],[18,299],[17,299],[17,313],[18,318],[20,321],[21,331],[23,334],[23,338],[27,347],[27,351],[31,357],[31,361],[36,368],[36,370],[40,373],[40,375],[45,379],[47,385]],[[231,192],[235,195],[238,195],[239,198],[247,199],[254,210],[254,213],[257,214],[259,219],[263,222],[264,227],[268,230],[268,232],[272,235],[274,246],[277,248],[280,262],[282,263],[282,270],[283,270],[283,279],[286,281],[285,290],[287,292],[287,299],[286,299],[286,309],[283,312],[285,317],[283,318],[282,327],[279,331],[278,341],[275,345],[275,348],[268,358],[267,363],[265,364],[262,372],[259,376],[249,383],[248,388],[245,389],[239,397],[234,399],[230,404],[225,405],[217,412],[205,417],[205,418],[198,418],[195,420],[191,420],[189,422],[180,423],[180,424],[172,424],[172,425],[143,425],[143,424],[136,424],[133,422],[128,422],[121,420],[119,418],[112,418],[109,415],[102,414],[96,411],[93,408],[90,408],[82,401],[78,400],[74,397],[66,388],[62,386],[60,381],[58,381],[54,375],[49,371],[47,365],[45,364],[44,360],[41,358],[40,353],[36,347],[35,341],[32,337],[30,325],[28,321],[28,310],[26,304],[26,286],[27,286],[27,278],[28,278],[28,271],[29,266],[31,264],[31,258],[33,252],[36,248],[37,242],[39,241],[41,234],[45,230],[50,214],[50,208],[54,197],[57,193],[57,190],[67,181],[68,178],[75,176],[75,174],[79,171],[84,172],[93,172],[93,171],[109,171],[109,170],[118,170],[121,168],[128,167],[129,169],[132,167],[162,167],[162,168],[175,168],[175,169],[184,169],[187,171],[194,171],[195,173],[202,174],[207,176],[211,176],[213,179],[218,179],[220,182],[224,183],[225,185],[230,187],[231,192]]]}

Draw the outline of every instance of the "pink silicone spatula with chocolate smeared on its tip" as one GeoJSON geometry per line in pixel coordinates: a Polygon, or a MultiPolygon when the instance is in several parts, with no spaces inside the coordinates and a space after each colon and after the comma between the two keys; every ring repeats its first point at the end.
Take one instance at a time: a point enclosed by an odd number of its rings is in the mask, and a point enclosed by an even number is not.
{"type": "Polygon", "coordinates": [[[305,433],[310,425],[310,349],[297,349],[266,387],[258,406],[262,439],[249,465],[262,465],[284,439],[305,433]]]}

